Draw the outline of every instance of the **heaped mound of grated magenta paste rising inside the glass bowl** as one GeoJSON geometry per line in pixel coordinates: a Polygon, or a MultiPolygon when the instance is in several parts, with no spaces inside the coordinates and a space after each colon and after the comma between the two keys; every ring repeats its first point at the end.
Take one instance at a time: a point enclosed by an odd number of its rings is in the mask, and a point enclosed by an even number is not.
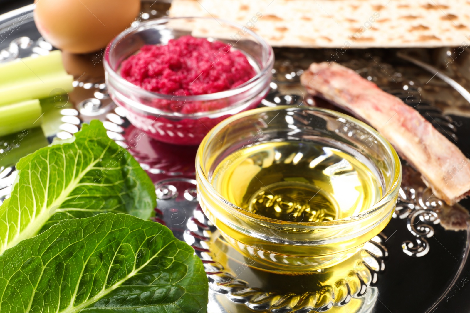
{"type": "MultiPolygon", "coordinates": [[[[255,70],[240,51],[220,41],[183,36],[168,45],[143,46],[139,53],[122,63],[121,75],[143,89],[163,94],[201,95],[223,92],[241,85],[255,70]]],[[[200,107],[162,106],[162,110],[181,113],[212,111],[227,103],[200,107]]]]}

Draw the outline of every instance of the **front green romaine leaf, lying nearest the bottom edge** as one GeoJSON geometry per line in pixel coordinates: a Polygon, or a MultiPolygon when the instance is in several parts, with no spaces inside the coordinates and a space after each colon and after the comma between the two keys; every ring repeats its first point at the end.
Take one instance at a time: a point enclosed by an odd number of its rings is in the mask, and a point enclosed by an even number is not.
{"type": "Polygon", "coordinates": [[[0,256],[2,313],[205,313],[207,277],[165,226],[128,214],[55,224],[0,256]]]}

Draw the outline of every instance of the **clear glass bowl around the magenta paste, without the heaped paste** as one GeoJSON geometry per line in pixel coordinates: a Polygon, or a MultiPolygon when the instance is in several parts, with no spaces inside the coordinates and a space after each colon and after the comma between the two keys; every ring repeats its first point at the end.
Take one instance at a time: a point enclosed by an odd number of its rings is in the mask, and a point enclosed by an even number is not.
{"type": "MultiPolygon", "coordinates": [[[[218,60],[217,57],[215,60],[218,60]]],[[[104,56],[110,96],[126,110],[130,122],[157,140],[178,145],[198,145],[215,125],[228,116],[257,107],[269,91],[273,64],[273,49],[263,38],[244,26],[204,17],[165,17],[140,23],[116,37],[106,48],[104,56]],[[142,46],[164,45],[170,39],[185,35],[231,44],[232,49],[238,49],[247,56],[257,75],[227,91],[187,96],[150,92],[120,76],[122,61],[142,46]],[[214,101],[227,106],[195,114],[166,112],[157,108],[158,104],[180,107],[214,101]]]]}

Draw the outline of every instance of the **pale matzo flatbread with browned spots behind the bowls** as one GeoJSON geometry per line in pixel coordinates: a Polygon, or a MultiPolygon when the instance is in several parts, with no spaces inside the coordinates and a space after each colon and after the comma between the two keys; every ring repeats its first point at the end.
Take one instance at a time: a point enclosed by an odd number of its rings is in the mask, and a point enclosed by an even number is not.
{"type": "MultiPolygon", "coordinates": [[[[170,16],[233,21],[272,46],[347,49],[470,43],[467,0],[173,0],[170,16]]],[[[203,24],[198,27],[204,29],[203,24]]]]}

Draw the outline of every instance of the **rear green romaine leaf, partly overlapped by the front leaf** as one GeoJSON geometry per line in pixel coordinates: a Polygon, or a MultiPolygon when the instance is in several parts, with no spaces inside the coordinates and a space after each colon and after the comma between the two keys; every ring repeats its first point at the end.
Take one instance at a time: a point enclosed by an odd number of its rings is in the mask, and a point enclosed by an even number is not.
{"type": "Polygon", "coordinates": [[[19,160],[11,197],[0,206],[0,254],[63,219],[115,212],[148,219],[149,176],[101,122],[19,160]]]}

